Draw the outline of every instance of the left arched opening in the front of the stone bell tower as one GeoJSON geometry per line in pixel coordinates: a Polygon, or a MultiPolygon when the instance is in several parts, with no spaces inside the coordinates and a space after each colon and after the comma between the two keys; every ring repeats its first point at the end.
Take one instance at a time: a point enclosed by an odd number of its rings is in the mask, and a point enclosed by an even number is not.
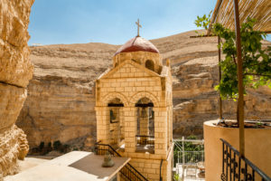
{"type": "Polygon", "coordinates": [[[120,146],[124,140],[124,104],[118,98],[110,100],[107,104],[109,110],[109,143],[120,146]]]}

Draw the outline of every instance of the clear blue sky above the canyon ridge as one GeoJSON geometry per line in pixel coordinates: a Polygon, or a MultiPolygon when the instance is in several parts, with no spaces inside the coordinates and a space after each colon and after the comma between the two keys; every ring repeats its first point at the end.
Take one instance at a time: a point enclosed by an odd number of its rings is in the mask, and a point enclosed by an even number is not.
{"type": "Polygon", "coordinates": [[[197,15],[208,14],[216,0],[36,0],[29,44],[123,44],[136,35],[146,39],[197,29],[197,15]]]}

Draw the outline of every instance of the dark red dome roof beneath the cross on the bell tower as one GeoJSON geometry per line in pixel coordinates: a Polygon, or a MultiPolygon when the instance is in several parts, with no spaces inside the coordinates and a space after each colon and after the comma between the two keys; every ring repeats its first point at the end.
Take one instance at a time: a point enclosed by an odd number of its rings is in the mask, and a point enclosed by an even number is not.
{"type": "Polygon", "coordinates": [[[139,51],[159,53],[158,49],[154,46],[153,43],[149,42],[148,40],[140,36],[135,36],[135,38],[132,38],[124,45],[122,45],[117,50],[115,55],[119,52],[139,52],[139,51]]]}

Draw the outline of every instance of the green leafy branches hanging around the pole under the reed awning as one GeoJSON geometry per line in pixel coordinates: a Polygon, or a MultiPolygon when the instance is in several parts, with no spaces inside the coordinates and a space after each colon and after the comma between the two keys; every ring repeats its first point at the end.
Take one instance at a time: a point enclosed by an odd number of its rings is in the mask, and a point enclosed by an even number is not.
{"type": "MultiPolygon", "coordinates": [[[[209,14],[210,16],[210,14],[209,14]]],[[[241,54],[243,62],[243,84],[246,88],[258,88],[267,85],[271,89],[271,47],[262,49],[262,41],[266,38],[266,33],[254,31],[254,19],[247,19],[241,24],[241,54]]],[[[195,24],[200,27],[209,28],[210,20],[206,15],[197,17],[195,24]],[[208,25],[207,25],[208,24],[208,25]]],[[[198,27],[199,27],[198,26],[198,27]]],[[[212,24],[211,33],[220,36],[223,40],[218,45],[225,54],[225,59],[220,62],[221,81],[215,87],[220,90],[222,99],[238,99],[238,76],[237,76],[237,48],[236,35],[222,24],[212,24]]]]}

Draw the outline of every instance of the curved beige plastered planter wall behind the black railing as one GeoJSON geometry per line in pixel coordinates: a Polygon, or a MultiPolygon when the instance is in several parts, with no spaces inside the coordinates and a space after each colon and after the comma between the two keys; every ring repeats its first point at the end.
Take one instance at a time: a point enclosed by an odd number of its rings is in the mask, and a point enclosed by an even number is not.
{"type": "Polygon", "coordinates": [[[216,122],[203,126],[206,180],[271,180],[271,129],[245,129],[245,157],[239,157],[238,128],[216,122]]]}

